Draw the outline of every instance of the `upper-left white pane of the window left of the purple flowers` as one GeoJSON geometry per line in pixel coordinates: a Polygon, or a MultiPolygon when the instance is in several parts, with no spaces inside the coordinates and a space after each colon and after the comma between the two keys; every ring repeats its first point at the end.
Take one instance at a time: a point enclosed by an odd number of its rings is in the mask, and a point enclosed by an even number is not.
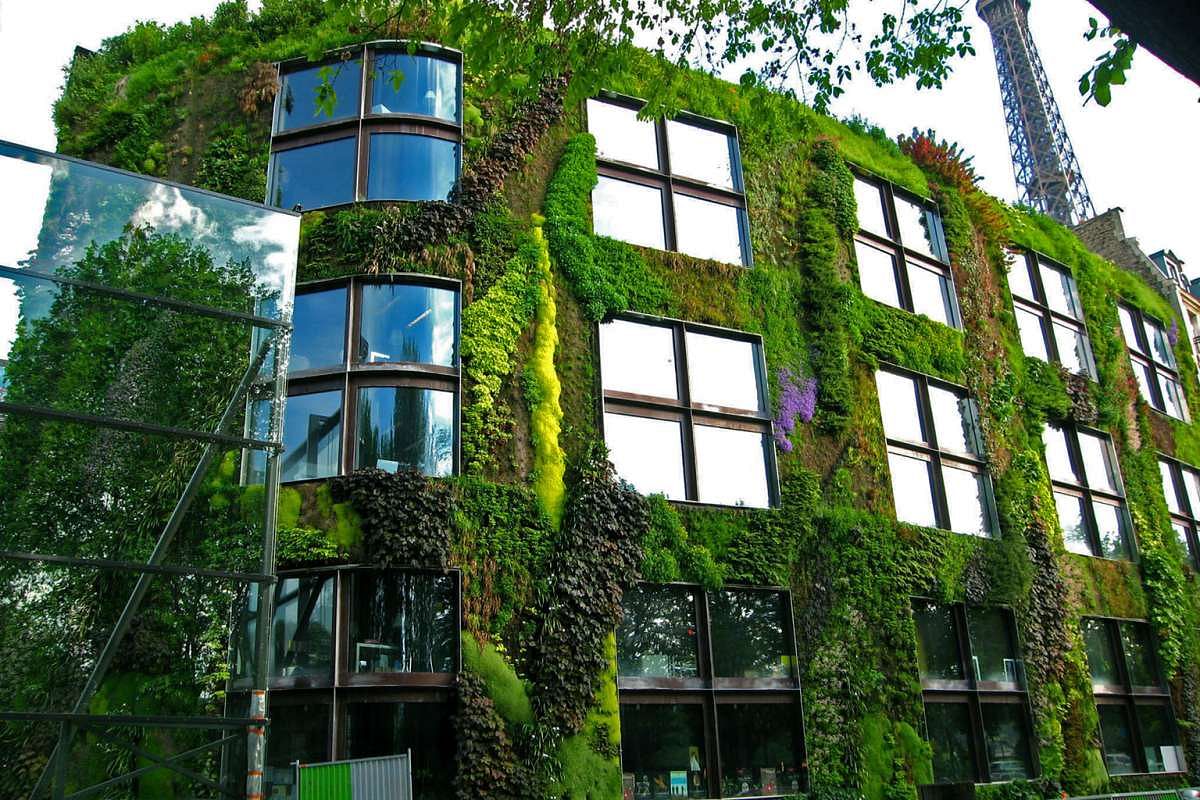
{"type": "Polygon", "coordinates": [[[604,389],[677,399],[674,331],[613,319],[600,325],[604,389]]]}

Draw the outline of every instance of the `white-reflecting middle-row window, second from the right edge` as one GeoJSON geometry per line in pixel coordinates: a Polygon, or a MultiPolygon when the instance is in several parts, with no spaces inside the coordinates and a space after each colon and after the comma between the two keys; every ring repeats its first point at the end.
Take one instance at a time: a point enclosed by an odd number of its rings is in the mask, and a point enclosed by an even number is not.
{"type": "Polygon", "coordinates": [[[1134,537],[1112,440],[1073,425],[1042,431],[1062,541],[1080,555],[1133,559],[1134,537]]]}

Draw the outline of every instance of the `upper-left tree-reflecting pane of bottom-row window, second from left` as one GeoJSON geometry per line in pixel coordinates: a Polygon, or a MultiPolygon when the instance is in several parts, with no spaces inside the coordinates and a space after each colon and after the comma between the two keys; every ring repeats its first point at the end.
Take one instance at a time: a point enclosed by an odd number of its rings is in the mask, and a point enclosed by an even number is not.
{"type": "Polygon", "coordinates": [[[696,594],[640,584],[622,599],[617,670],[625,678],[696,678],[696,594]]]}

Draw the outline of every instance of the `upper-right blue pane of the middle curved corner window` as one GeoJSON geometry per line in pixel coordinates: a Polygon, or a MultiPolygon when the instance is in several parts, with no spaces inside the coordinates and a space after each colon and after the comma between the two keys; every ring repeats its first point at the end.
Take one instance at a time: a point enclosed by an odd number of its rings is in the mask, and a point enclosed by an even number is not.
{"type": "Polygon", "coordinates": [[[412,283],[362,287],[359,363],[456,363],[458,293],[412,283]]]}

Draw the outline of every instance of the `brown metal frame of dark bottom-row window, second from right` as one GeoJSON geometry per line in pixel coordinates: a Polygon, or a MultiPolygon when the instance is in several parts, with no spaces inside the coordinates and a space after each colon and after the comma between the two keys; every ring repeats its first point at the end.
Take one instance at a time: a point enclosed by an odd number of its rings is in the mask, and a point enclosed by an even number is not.
{"type": "MultiPolygon", "coordinates": [[[[971,646],[971,618],[967,606],[965,603],[943,603],[930,597],[918,596],[912,599],[910,613],[913,613],[918,604],[948,607],[950,609],[954,616],[953,625],[954,639],[956,644],[955,651],[959,658],[959,668],[962,670],[962,675],[965,676],[964,680],[940,680],[923,676],[920,679],[923,708],[930,703],[948,703],[965,705],[967,708],[971,720],[971,730],[967,732],[967,735],[973,759],[972,777],[976,783],[994,783],[1015,778],[1001,778],[997,781],[991,775],[991,764],[988,758],[988,728],[983,718],[983,708],[989,704],[1021,705],[1025,709],[1025,744],[1030,757],[1030,768],[1032,770],[1032,775],[1028,780],[1036,780],[1038,775],[1040,775],[1042,769],[1038,759],[1038,748],[1036,747],[1037,738],[1033,729],[1033,709],[1030,705],[1028,688],[1024,682],[1024,670],[1021,673],[1022,680],[1016,682],[984,681],[977,679],[976,670],[973,669],[974,658],[971,646]]],[[[980,608],[1001,610],[1004,613],[1004,618],[1008,622],[1007,630],[1009,644],[1013,648],[1013,652],[1020,656],[1022,652],[1021,640],[1013,610],[1004,606],[982,606],[980,608]]],[[[913,620],[913,627],[916,627],[916,620],[913,620]]],[[[914,632],[919,639],[920,632],[914,632]]],[[[1024,660],[1020,660],[1020,663],[1024,668],[1024,660]]],[[[929,741],[928,728],[925,732],[925,741],[929,741]]]]}

